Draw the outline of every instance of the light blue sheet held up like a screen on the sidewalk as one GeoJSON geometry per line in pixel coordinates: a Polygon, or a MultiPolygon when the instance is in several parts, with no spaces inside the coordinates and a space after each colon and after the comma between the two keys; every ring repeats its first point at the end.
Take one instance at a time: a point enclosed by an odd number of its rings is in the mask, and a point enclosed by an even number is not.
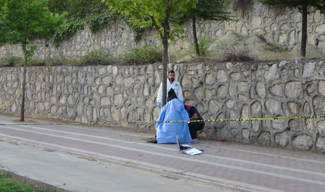
{"type": "MultiPolygon", "coordinates": [[[[157,121],[188,121],[188,113],[180,99],[173,99],[163,106],[157,121]]],[[[176,143],[176,136],[180,143],[191,142],[191,135],[187,122],[156,123],[156,137],[158,143],[176,143]]]]}

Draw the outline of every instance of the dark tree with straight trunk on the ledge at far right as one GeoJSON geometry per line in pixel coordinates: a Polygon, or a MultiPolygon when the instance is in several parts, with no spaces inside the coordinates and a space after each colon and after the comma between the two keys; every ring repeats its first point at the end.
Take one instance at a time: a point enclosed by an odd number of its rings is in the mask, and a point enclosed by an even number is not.
{"type": "Polygon", "coordinates": [[[300,54],[302,57],[306,56],[307,43],[307,14],[308,8],[314,7],[325,13],[325,0],[259,0],[263,4],[267,4],[278,8],[297,8],[302,12],[302,30],[301,30],[301,46],[300,54]]]}

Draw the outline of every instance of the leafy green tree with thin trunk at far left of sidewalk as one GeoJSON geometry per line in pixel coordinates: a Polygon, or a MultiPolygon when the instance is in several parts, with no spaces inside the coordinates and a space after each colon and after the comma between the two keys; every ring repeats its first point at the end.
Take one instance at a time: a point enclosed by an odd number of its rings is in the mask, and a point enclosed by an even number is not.
{"type": "Polygon", "coordinates": [[[24,72],[20,121],[24,121],[27,61],[34,55],[35,46],[29,43],[35,38],[51,38],[59,29],[64,14],[48,10],[47,0],[0,0],[0,45],[21,44],[24,53],[24,72]]]}

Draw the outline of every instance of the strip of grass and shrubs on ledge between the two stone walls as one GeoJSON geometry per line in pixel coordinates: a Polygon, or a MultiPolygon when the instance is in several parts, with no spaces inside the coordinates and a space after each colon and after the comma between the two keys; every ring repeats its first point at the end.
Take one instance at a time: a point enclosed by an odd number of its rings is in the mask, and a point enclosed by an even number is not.
{"type": "MultiPolygon", "coordinates": [[[[218,49],[221,49],[219,55],[214,54],[212,50],[209,49],[209,45],[212,40],[209,37],[199,37],[199,47],[201,55],[198,57],[195,55],[194,46],[189,46],[184,50],[175,49],[174,52],[171,52],[170,59],[171,63],[176,60],[184,59],[190,62],[216,62],[216,61],[232,61],[236,60],[233,57],[223,58],[222,54],[227,54],[227,50],[233,50],[231,47],[237,47],[238,44],[242,44],[243,48],[237,50],[237,52],[243,53],[249,50],[246,47],[247,37],[241,36],[234,33],[234,46],[227,45],[227,41],[224,38],[219,38],[215,42],[215,46],[218,49]],[[247,49],[247,50],[246,50],[247,49]],[[221,55],[221,57],[220,57],[221,55]],[[230,59],[230,60],[229,60],[230,59]]],[[[261,35],[257,35],[262,37],[261,35]]],[[[266,43],[260,45],[261,49],[264,50],[264,54],[256,58],[257,61],[280,61],[280,60],[292,60],[295,58],[301,58],[300,49],[295,51],[290,51],[289,48],[284,45],[280,47],[279,45],[266,43]]],[[[239,55],[238,53],[233,52],[234,56],[239,55]]],[[[249,51],[248,51],[249,53],[249,51]]],[[[321,53],[317,49],[311,48],[306,50],[305,59],[311,58],[325,58],[325,54],[321,53]]],[[[46,58],[46,59],[29,59],[28,66],[91,66],[91,65],[143,65],[143,64],[153,64],[156,62],[162,61],[162,48],[155,44],[144,45],[141,47],[129,47],[124,54],[114,57],[109,53],[104,47],[99,50],[88,51],[85,56],[75,58],[46,58]]],[[[6,54],[0,58],[0,67],[22,67],[23,58],[6,54]]]]}

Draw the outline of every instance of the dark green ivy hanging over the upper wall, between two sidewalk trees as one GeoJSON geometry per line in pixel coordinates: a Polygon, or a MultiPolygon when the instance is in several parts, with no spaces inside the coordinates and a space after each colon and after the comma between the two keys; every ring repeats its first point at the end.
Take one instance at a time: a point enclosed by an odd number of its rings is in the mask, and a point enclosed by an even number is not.
{"type": "Polygon", "coordinates": [[[49,9],[54,13],[68,12],[68,16],[60,31],[55,34],[55,45],[72,35],[79,29],[83,29],[85,23],[89,24],[92,33],[100,31],[104,27],[110,28],[114,22],[123,19],[135,31],[135,42],[142,36],[143,29],[132,26],[127,22],[128,16],[120,15],[110,10],[101,0],[49,0],[49,9]]]}

